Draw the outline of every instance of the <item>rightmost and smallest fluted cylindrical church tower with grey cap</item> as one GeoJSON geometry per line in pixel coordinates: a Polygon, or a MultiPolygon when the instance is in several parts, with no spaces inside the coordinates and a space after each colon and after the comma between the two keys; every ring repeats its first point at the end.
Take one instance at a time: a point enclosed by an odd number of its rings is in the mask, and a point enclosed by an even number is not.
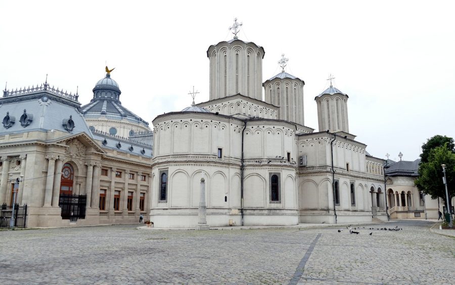
{"type": "Polygon", "coordinates": [[[349,133],[347,99],[344,94],[330,84],[330,87],[317,95],[314,100],[317,103],[317,121],[319,131],[349,133]]]}

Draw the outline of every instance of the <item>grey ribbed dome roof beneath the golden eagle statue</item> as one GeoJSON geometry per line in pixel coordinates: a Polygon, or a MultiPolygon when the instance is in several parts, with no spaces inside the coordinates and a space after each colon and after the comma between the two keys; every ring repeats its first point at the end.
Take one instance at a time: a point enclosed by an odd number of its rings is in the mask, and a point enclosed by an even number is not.
{"type": "Polygon", "coordinates": [[[120,94],[117,82],[111,79],[109,73],[106,74],[106,77],[100,79],[93,88],[93,99],[81,107],[84,117],[93,119],[105,116],[107,119],[126,119],[132,123],[148,126],[147,121],[122,105],[119,100],[120,94]]]}

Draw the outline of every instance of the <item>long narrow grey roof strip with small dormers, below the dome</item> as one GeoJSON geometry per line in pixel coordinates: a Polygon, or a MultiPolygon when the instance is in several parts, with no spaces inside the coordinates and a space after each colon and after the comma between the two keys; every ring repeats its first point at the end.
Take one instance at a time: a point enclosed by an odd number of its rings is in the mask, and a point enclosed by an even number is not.
{"type": "Polygon", "coordinates": [[[109,133],[101,131],[93,132],[93,137],[94,139],[101,141],[102,148],[114,149],[117,151],[132,153],[144,157],[153,156],[153,147],[150,144],[123,138],[120,136],[110,135],[109,133]],[[118,143],[120,143],[120,147],[117,147],[118,143]],[[130,147],[132,147],[132,149],[130,149],[130,147]]]}

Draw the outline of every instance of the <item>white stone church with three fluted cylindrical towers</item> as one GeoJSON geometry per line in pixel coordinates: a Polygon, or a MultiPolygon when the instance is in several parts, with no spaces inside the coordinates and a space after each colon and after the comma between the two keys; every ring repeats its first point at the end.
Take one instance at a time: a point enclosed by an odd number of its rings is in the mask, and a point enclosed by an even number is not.
{"type": "Polygon", "coordinates": [[[347,94],[331,84],[315,96],[314,132],[305,82],[285,72],[284,56],[265,82],[264,48],[253,42],[234,36],[207,57],[210,100],[153,120],[155,226],[197,224],[202,177],[210,226],[387,219],[384,160],[349,132],[347,94]]]}

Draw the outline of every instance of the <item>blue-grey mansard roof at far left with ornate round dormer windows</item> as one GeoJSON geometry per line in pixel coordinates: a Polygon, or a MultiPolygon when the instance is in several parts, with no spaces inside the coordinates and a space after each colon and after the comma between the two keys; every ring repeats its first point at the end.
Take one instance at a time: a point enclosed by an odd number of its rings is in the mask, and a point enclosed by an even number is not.
{"type": "Polygon", "coordinates": [[[68,132],[63,126],[63,120],[68,120],[71,116],[74,122],[74,129],[68,133],[85,132],[89,137],[93,138],[82,113],[77,107],[78,105],[80,104],[75,104],[74,101],[67,100],[48,91],[2,97],[0,98],[0,120],[3,121],[7,112],[9,112],[9,116],[15,117],[15,123],[8,129],[0,125],[0,134],[24,133],[37,130],[68,132]],[[26,127],[22,127],[19,121],[24,114],[24,109],[29,117],[30,115],[33,117],[31,123],[26,127]]]}

